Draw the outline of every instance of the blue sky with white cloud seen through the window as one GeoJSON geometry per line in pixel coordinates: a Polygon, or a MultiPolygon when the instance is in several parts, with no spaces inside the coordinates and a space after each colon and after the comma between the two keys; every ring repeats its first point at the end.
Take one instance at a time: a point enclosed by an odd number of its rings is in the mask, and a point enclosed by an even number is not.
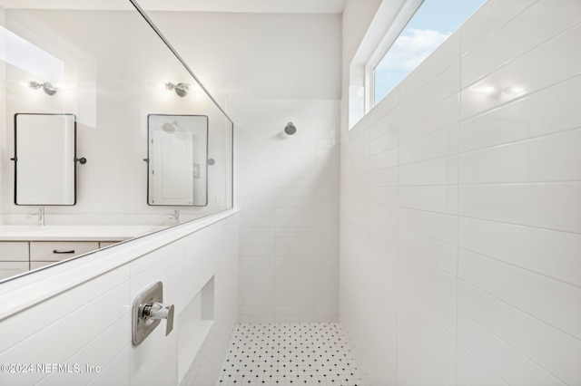
{"type": "Polygon", "coordinates": [[[374,69],[375,103],[403,81],[486,1],[425,0],[374,69]]]}

